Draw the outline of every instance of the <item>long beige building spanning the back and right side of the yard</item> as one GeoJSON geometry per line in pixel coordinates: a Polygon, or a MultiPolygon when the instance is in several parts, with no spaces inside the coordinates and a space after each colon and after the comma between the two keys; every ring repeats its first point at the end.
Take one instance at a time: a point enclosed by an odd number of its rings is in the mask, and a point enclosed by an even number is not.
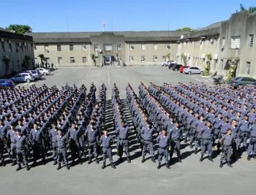
{"type": "Polygon", "coordinates": [[[35,59],[55,66],[158,65],[166,60],[203,68],[211,54],[211,72],[256,76],[256,15],[237,12],[229,20],[182,31],[32,33],[35,59]],[[183,58],[181,59],[181,56],[183,58]]]}

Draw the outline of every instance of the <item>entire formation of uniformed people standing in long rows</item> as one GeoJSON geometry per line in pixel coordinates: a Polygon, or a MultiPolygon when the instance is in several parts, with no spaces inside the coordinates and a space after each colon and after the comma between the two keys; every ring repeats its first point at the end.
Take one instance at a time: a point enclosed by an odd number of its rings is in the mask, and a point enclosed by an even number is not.
{"type": "Polygon", "coordinates": [[[157,160],[157,169],[162,167],[162,158],[170,169],[174,153],[182,162],[183,141],[195,148],[195,154],[200,152],[200,161],[206,153],[209,161],[220,153],[221,168],[225,163],[233,167],[245,151],[248,161],[256,158],[256,90],[252,86],[235,90],[193,83],[151,83],[148,87],[140,83],[137,96],[128,84],[130,120],[114,84],[110,132],[105,124],[107,88],[102,84],[97,97],[96,91],[94,83],[89,91],[85,85],[1,89],[1,167],[11,164],[17,165],[17,171],[23,167],[29,170],[45,165],[51,156],[58,170],[62,165],[70,169],[71,165],[83,164],[84,158],[88,164],[102,161],[102,169],[108,158],[110,167],[116,169],[113,145],[119,163],[123,153],[131,163],[133,135],[141,149],[141,163],[146,162],[148,154],[152,162],[157,160]]]}

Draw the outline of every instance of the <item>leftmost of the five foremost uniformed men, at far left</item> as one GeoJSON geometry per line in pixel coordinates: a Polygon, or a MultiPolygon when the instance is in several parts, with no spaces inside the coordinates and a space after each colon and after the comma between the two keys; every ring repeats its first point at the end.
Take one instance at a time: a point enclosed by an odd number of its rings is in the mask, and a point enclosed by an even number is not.
{"type": "Polygon", "coordinates": [[[29,171],[29,161],[28,161],[28,139],[25,135],[21,133],[21,129],[17,129],[17,135],[15,136],[15,145],[17,153],[17,163],[18,168],[16,171],[21,169],[21,164],[26,164],[26,169],[29,171]]]}

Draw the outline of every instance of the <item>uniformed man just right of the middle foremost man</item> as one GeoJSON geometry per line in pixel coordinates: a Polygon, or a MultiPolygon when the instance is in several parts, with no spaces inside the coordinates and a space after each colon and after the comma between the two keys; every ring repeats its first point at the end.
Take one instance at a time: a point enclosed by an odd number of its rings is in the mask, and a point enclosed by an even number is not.
{"type": "Polygon", "coordinates": [[[126,126],[124,121],[121,121],[121,125],[116,128],[116,135],[118,136],[117,148],[119,161],[123,156],[123,152],[127,156],[127,162],[131,163],[130,154],[129,154],[129,126],[126,126]]]}

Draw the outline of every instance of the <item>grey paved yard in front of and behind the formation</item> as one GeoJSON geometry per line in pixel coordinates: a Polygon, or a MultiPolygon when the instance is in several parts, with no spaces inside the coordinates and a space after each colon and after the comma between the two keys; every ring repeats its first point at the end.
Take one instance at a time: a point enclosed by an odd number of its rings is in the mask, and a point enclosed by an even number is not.
{"type": "MultiPolygon", "coordinates": [[[[97,86],[105,83],[107,99],[110,99],[111,88],[116,83],[122,99],[126,98],[125,87],[132,85],[138,93],[138,85],[143,81],[157,85],[162,83],[205,83],[212,85],[211,78],[201,75],[185,75],[162,66],[130,66],[130,67],[102,67],[93,68],[61,68],[45,76],[43,80],[35,82],[37,86],[45,83],[48,87],[68,83],[78,87],[85,84],[89,88],[91,82],[97,86]]],[[[29,87],[32,83],[21,83],[19,86],[29,87]]],[[[219,168],[220,156],[214,156],[214,162],[204,159],[200,162],[200,153],[193,153],[189,145],[181,142],[182,163],[176,161],[174,155],[171,169],[162,167],[157,169],[157,163],[148,159],[142,164],[140,149],[130,148],[132,163],[123,161],[116,164],[116,169],[110,166],[101,169],[99,164],[87,164],[88,158],[82,165],[77,164],[56,170],[53,161],[48,157],[45,166],[33,167],[30,171],[22,169],[16,172],[16,167],[7,164],[0,167],[0,194],[255,194],[256,192],[256,160],[246,160],[246,153],[233,164],[233,168],[225,166],[219,168]]],[[[113,150],[113,160],[117,161],[116,150],[113,150]]],[[[146,157],[149,157],[148,155],[146,157]]],[[[125,158],[124,158],[125,159],[125,158]]],[[[30,163],[31,164],[31,163],[30,163]]],[[[107,160],[108,164],[108,160],[107,160]]]]}

